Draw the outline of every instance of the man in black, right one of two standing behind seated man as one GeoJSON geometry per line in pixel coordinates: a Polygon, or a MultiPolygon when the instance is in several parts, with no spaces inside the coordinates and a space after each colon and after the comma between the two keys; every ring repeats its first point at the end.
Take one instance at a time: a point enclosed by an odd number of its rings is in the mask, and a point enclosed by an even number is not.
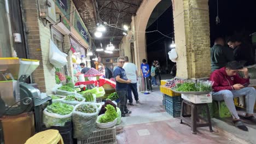
{"type": "MultiPolygon", "coordinates": [[[[245,63],[243,66],[253,64],[253,54],[252,49],[249,45],[242,43],[241,40],[232,37],[228,40],[228,45],[231,47],[234,53],[235,61],[245,63]]],[[[242,64],[241,63],[241,64],[242,64]]]]}

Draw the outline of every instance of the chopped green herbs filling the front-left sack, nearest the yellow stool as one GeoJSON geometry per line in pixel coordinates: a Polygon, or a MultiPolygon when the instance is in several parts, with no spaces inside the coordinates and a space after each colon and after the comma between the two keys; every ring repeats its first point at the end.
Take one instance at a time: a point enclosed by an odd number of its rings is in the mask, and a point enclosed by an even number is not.
{"type": "Polygon", "coordinates": [[[47,108],[47,112],[57,113],[59,115],[68,115],[74,109],[73,106],[68,104],[63,104],[61,102],[53,103],[51,105],[48,105],[46,108],[47,108]]]}

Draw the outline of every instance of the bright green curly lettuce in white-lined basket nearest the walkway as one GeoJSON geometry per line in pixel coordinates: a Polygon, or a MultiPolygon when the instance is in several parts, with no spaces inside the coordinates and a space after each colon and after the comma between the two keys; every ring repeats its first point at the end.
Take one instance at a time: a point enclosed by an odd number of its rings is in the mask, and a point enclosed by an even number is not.
{"type": "Polygon", "coordinates": [[[107,111],[105,112],[105,115],[99,119],[99,122],[100,123],[113,122],[115,118],[118,117],[117,111],[115,111],[115,108],[112,105],[107,105],[105,108],[107,109],[107,111]]]}

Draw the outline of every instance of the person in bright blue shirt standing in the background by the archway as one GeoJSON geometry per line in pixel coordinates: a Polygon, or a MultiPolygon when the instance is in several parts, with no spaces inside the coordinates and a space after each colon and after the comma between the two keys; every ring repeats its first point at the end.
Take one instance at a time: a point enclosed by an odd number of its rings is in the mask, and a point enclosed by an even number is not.
{"type": "MultiPolygon", "coordinates": [[[[152,85],[151,85],[151,81],[149,79],[150,76],[150,69],[149,69],[149,65],[146,63],[147,60],[146,59],[142,59],[142,64],[141,64],[141,74],[143,77],[146,78],[147,81],[147,88],[152,91],[152,85]]],[[[148,89],[146,89],[146,91],[148,91],[148,89]]]]}

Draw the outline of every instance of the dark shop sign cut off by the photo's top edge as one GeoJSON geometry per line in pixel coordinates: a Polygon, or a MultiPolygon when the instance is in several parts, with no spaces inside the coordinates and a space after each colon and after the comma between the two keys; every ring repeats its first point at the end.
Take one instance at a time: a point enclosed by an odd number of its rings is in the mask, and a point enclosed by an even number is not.
{"type": "MultiPolygon", "coordinates": [[[[62,14],[69,20],[70,18],[70,0],[55,0],[55,3],[61,10],[62,14]]],[[[70,27],[69,27],[70,29],[70,27]]]]}

